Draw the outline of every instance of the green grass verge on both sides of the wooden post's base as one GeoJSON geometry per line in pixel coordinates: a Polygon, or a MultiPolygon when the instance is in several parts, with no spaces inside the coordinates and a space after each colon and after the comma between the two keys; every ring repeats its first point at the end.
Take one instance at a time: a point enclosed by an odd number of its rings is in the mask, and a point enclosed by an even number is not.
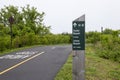
{"type": "MultiPolygon", "coordinates": [[[[120,63],[98,57],[91,46],[86,47],[86,80],[120,80],[120,63]]],[[[72,55],[55,80],[72,80],[72,55]]]]}

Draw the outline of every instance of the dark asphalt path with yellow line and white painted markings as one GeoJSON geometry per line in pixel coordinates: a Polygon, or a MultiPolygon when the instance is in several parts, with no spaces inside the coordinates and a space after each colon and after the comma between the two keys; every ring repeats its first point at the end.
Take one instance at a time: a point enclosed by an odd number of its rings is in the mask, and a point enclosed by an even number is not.
{"type": "Polygon", "coordinates": [[[44,46],[0,56],[0,80],[54,80],[71,46],[44,46]]]}

